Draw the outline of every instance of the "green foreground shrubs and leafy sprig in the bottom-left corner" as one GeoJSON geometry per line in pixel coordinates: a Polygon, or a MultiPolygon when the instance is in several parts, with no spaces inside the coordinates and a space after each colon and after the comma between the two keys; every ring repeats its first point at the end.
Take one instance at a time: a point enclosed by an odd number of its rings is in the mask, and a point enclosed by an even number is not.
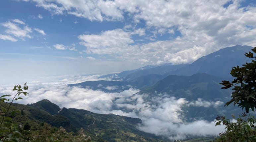
{"type": "MultiPolygon", "coordinates": [[[[15,85],[13,91],[15,95],[3,95],[0,97],[0,142],[90,142],[91,137],[86,136],[84,129],[81,128],[77,133],[67,132],[63,127],[52,127],[47,123],[40,124],[39,127],[31,128],[30,123],[18,124],[13,121],[14,115],[19,113],[24,116],[23,110],[12,110],[11,105],[20,97],[21,94],[27,96],[29,87],[15,85]]],[[[16,116],[17,117],[17,116],[16,116]]]]}

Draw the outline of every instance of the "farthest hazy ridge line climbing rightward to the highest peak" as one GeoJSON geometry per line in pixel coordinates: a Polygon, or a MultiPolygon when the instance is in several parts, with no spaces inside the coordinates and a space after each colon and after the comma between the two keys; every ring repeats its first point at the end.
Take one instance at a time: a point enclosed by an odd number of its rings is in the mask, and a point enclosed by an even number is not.
{"type": "Polygon", "coordinates": [[[203,56],[192,64],[172,65],[167,63],[160,66],[145,66],[131,71],[103,75],[101,78],[112,76],[113,80],[130,81],[147,74],[160,74],[166,77],[168,75],[190,76],[195,73],[208,73],[217,77],[226,77],[233,66],[250,62],[250,59],[245,57],[244,53],[252,48],[252,46],[247,45],[235,45],[203,56]]]}

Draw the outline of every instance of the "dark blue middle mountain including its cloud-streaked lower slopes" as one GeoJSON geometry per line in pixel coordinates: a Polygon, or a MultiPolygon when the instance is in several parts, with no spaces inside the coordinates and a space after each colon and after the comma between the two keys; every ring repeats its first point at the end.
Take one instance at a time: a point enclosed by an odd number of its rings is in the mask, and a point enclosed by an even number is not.
{"type": "MultiPolygon", "coordinates": [[[[221,89],[221,79],[206,73],[197,73],[191,76],[169,75],[159,80],[155,85],[144,89],[131,97],[116,98],[113,100],[113,109],[124,112],[142,113],[144,108],[134,110],[134,107],[144,102],[150,109],[162,109],[161,105],[172,97],[184,98],[186,103],[181,106],[180,118],[183,122],[195,120],[212,121],[217,115],[236,116],[242,111],[233,106],[224,107],[224,102],[230,99],[231,89],[221,89]]],[[[175,101],[169,101],[173,103],[175,101]]]]}

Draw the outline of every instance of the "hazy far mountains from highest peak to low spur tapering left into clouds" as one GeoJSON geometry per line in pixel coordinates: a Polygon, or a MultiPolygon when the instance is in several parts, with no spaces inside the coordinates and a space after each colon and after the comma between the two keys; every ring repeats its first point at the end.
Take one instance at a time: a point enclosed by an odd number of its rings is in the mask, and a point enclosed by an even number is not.
{"type": "Polygon", "coordinates": [[[229,79],[231,78],[229,72],[233,66],[250,62],[244,53],[252,48],[246,45],[226,47],[203,56],[192,64],[172,65],[167,63],[160,66],[145,66],[131,71],[100,76],[102,79],[112,77],[112,81],[86,81],[70,86],[91,87],[93,90],[105,92],[121,92],[129,87],[146,89],[169,75],[191,76],[196,73],[207,73],[222,79],[229,79]]]}

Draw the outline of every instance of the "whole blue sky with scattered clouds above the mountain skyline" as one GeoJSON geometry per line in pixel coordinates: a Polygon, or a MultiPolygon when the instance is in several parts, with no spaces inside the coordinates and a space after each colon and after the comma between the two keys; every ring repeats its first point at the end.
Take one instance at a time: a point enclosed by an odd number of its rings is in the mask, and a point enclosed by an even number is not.
{"type": "Polygon", "coordinates": [[[254,0],[1,0],[0,78],[191,63],[256,45],[254,0]]]}

